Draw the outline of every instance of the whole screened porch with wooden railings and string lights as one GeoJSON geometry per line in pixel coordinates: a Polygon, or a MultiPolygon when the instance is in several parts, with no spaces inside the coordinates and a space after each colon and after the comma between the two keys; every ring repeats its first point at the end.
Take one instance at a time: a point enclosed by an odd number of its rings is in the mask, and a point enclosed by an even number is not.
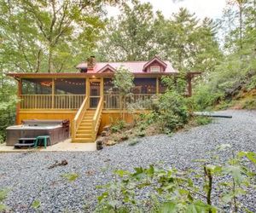
{"type": "MultiPolygon", "coordinates": [[[[103,96],[104,109],[119,109],[120,96],[113,88],[112,78],[91,83],[89,78],[23,78],[20,81],[20,109],[79,109],[87,96],[90,106],[97,106],[103,96]],[[98,96],[97,96],[98,95],[98,96]]],[[[140,105],[150,109],[156,95],[166,87],[158,78],[135,78],[135,87],[125,100],[125,107],[140,105]]]]}

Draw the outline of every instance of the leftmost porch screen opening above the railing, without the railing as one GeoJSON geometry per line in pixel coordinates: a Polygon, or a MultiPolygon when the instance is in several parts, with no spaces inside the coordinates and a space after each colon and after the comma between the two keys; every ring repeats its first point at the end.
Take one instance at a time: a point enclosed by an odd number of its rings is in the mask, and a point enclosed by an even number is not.
{"type": "Polygon", "coordinates": [[[22,79],[22,95],[50,95],[52,92],[51,79],[22,79]]]}

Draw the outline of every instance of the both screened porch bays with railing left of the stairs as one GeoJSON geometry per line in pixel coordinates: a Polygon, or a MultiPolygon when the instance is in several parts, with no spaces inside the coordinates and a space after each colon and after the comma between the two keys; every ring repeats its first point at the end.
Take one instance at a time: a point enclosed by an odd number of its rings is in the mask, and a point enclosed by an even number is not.
{"type": "Polygon", "coordinates": [[[85,97],[85,79],[58,78],[54,84],[49,78],[22,79],[20,108],[78,109],[81,106],[85,97]]]}

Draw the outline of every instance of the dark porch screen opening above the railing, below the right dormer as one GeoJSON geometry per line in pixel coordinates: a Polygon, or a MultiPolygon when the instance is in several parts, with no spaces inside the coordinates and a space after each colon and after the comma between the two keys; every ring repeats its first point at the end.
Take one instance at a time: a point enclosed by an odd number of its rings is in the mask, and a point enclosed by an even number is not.
{"type": "Polygon", "coordinates": [[[156,93],[156,78],[135,78],[135,94],[155,94],[156,93]]]}

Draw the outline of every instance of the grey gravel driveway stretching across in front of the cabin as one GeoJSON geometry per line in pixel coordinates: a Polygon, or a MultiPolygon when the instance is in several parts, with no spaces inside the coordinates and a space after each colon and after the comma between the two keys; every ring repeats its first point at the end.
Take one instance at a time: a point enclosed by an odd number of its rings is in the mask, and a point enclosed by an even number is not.
{"type": "MultiPolygon", "coordinates": [[[[172,137],[154,135],[136,146],[128,142],[98,152],[0,153],[0,189],[9,188],[5,200],[11,212],[26,212],[33,199],[41,201],[43,212],[89,212],[96,203],[96,186],[112,179],[112,170],[148,166],[158,162],[180,170],[196,167],[192,160],[204,158],[207,151],[229,143],[237,151],[256,152],[256,112],[225,111],[233,118],[216,118],[212,124],[178,132],[172,137]],[[48,167],[66,159],[66,166],[48,167]],[[63,180],[65,173],[77,173],[76,181],[63,180]],[[90,206],[89,210],[85,206],[90,206]]],[[[230,157],[226,152],[223,160],[230,157]]],[[[247,196],[251,210],[256,193],[247,196]]],[[[30,208],[28,210],[32,212],[30,208]]]]}

